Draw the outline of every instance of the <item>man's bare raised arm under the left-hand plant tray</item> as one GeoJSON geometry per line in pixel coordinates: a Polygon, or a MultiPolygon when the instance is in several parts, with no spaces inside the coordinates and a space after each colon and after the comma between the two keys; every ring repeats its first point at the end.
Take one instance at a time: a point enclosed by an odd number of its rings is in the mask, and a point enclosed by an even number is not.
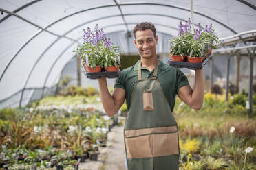
{"type": "Polygon", "coordinates": [[[118,112],[119,108],[125,101],[125,90],[122,88],[114,88],[111,95],[107,89],[107,80],[105,77],[98,80],[100,99],[103,103],[103,108],[109,117],[118,112]]]}

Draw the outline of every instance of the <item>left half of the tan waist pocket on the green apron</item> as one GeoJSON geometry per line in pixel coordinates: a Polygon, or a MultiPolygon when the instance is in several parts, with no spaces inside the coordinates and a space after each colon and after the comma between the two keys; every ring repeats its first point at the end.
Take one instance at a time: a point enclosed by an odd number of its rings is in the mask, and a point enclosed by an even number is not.
{"type": "Polygon", "coordinates": [[[127,158],[151,158],[152,135],[125,138],[127,158]]]}

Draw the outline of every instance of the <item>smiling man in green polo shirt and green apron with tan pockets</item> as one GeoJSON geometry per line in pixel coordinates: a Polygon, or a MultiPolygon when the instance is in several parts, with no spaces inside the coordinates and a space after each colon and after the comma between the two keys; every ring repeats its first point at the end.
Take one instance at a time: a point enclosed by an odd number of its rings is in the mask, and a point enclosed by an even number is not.
{"type": "Polygon", "coordinates": [[[129,170],[178,169],[178,127],[172,114],[175,97],[178,95],[193,109],[200,109],[204,99],[203,70],[195,71],[192,90],[182,71],[157,59],[157,43],[152,23],[137,24],[134,45],[140,60],[121,72],[112,95],[107,90],[106,79],[98,80],[107,115],[116,114],[126,100],[129,114],[124,136],[129,170]]]}

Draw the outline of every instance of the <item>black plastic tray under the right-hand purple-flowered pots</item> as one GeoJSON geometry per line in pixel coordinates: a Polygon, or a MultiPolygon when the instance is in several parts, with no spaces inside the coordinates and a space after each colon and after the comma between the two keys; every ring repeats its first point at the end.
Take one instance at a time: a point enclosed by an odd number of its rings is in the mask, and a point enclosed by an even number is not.
{"type": "Polygon", "coordinates": [[[184,62],[175,62],[175,61],[172,61],[171,59],[169,59],[168,64],[175,68],[188,68],[191,70],[200,70],[204,67],[204,65],[209,60],[211,60],[211,57],[204,59],[203,62],[201,62],[201,63],[191,63],[191,62],[187,62],[187,60],[185,60],[184,62]]]}

